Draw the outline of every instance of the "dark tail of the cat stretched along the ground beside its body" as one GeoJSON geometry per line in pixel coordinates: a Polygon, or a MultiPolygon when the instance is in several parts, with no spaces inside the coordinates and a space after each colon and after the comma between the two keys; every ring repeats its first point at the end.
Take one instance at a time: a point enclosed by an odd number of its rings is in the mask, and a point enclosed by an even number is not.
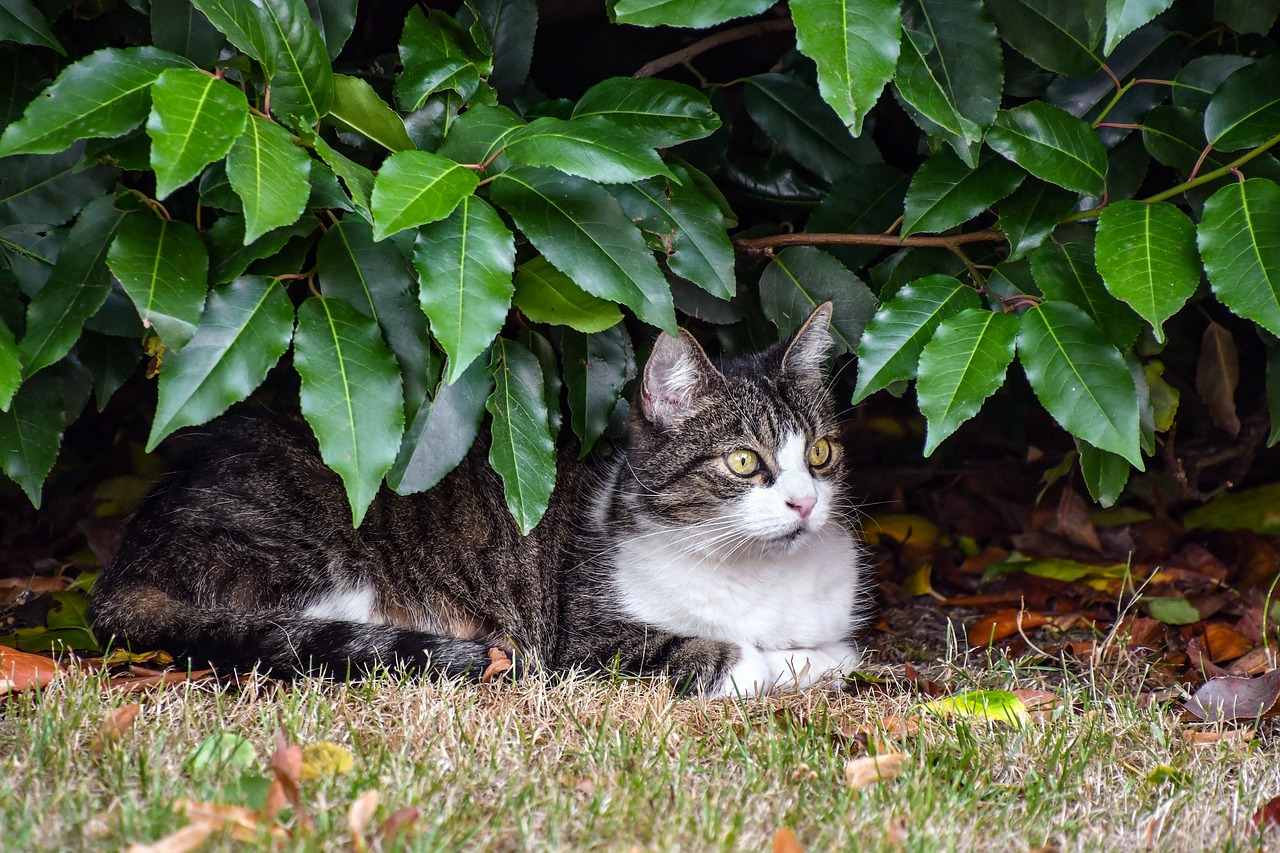
{"type": "Polygon", "coordinates": [[[492,663],[492,646],[477,640],[285,611],[197,607],[147,584],[95,596],[92,617],[104,643],[284,678],[361,678],[385,666],[480,680],[492,663]]]}

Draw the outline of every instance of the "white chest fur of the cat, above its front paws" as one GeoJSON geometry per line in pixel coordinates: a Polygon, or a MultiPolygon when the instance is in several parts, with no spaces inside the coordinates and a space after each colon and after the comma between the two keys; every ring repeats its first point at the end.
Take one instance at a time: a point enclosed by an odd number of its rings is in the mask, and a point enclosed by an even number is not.
{"type": "Polygon", "coordinates": [[[840,643],[855,628],[859,552],[838,524],[783,553],[717,561],[690,546],[657,532],[621,543],[614,589],[628,616],[758,649],[840,643]]]}

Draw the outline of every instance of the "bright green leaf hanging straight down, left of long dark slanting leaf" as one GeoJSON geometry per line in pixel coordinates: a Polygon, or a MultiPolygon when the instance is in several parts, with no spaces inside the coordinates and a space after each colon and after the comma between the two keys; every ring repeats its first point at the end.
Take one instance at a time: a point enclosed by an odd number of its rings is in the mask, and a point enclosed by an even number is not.
{"type": "Polygon", "coordinates": [[[449,356],[454,382],[502,330],[511,309],[516,242],[488,202],[467,196],[448,219],[425,225],[413,243],[419,304],[449,356]]]}

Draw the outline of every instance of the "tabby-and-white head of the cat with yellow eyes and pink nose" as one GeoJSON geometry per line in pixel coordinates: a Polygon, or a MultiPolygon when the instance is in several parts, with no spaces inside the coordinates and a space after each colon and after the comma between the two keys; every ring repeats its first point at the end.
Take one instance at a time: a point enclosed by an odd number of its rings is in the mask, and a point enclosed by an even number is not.
{"type": "Polygon", "coordinates": [[[721,557],[785,552],[837,523],[831,314],[823,304],[788,339],[719,366],[687,332],[658,338],[620,482],[639,517],[696,532],[721,557]]]}

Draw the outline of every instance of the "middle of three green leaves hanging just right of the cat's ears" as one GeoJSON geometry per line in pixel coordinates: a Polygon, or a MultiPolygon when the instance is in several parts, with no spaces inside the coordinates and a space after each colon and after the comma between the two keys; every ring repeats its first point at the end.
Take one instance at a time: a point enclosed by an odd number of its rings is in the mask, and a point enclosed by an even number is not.
{"type": "Polygon", "coordinates": [[[925,456],[1005,384],[1016,338],[1018,320],[1011,314],[983,309],[965,309],[938,324],[920,351],[915,391],[928,421],[925,456]]]}

